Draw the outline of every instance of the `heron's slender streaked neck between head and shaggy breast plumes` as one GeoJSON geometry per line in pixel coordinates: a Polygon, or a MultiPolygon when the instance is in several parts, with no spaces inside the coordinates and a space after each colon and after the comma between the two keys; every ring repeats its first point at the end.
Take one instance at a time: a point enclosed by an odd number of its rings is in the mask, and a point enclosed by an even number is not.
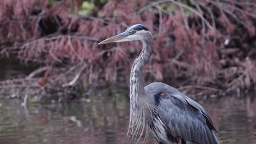
{"type": "Polygon", "coordinates": [[[141,53],[139,53],[138,58],[135,59],[131,69],[130,76],[130,98],[131,102],[138,97],[145,97],[146,92],[144,90],[143,85],[143,76],[142,72],[144,69],[144,65],[146,65],[149,61],[149,58],[153,52],[153,39],[152,36],[147,37],[142,40],[143,49],[141,53]]]}

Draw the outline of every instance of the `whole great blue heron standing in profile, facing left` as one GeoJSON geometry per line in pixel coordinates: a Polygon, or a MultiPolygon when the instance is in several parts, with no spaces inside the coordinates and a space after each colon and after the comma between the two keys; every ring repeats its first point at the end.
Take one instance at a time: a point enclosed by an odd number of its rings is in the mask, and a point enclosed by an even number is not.
{"type": "Polygon", "coordinates": [[[152,34],[145,26],[131,26],[98,44],[132,40],[141,40],[143,49],[131,69],[129,133],[141,137],[149,126],[158,143],[217,144],[213,131],[218,131],[200,104],[165,83],[144,87],[142,71],[153,52],[152,34]]]}

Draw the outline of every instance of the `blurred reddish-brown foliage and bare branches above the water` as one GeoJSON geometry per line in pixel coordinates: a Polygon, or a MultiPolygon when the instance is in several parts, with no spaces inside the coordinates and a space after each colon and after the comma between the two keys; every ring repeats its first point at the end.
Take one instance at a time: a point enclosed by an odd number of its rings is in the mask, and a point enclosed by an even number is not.
{"type": "Polygon", "coordinates": [[[67,0],[48,7],[48,1],[42,0],[0,1],[0,54],[13,52],[24,62],[51,66],[53,70],[42,79],[43,86],[74,86],[75,76],[83,77],[86,83],[100,79],[115,82],[120,74],[129,79],[141,44],[97,43],[141,23],[155,39],[154,54],[145,69],[147,80],[165,79],[178,87],[201,85],[228,91],[255,85],[253,1],[190,0],[184,4],[111,0],[98,11],[104,18],[72,12],[82,3],[67,0]],[[224,44],[225,40],[229,43],[224,44]],[[61,69],[63,63],[66,66],[61,69]],[[78,66],[69,69],[71,65],[78,66]],[[68,69],[72,72],[66,73],[68,69]],[[54,81],[46,80],[49,77],[54,81]],[[182,83],[177,85],[172,80],[182,83]]]}

